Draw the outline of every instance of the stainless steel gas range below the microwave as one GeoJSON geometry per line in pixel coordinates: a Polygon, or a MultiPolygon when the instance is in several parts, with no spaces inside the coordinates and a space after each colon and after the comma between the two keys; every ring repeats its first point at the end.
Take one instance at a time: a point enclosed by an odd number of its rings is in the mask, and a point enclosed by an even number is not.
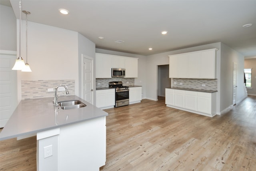
{"type": "Polygon", "coordinates": [[[129,105],[129,87],[123,86],[122,82],[109,82],[109,87],[116,88],[116,105],[114,107],[120,107],[129,105]]]}

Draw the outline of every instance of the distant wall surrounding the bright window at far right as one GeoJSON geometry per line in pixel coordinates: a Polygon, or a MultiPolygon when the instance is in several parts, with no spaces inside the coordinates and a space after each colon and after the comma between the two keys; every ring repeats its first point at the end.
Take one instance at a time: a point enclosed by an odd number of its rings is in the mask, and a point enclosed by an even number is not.
{"type": "Polygon", "coordinates": [[[252,89],[247,89],[248,95],[256,95],[256,58],[244,60],[244,68],[252,68],[252,89]]]}

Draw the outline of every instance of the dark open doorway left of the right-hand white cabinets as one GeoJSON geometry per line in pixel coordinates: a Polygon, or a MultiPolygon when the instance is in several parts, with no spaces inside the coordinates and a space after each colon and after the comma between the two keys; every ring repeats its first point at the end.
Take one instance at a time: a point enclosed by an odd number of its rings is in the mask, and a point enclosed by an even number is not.
{"type": "Polygon", "coordinates": [[[159,65],[158,66],[158,92],[157,96],[165,97],[165,88],[171,87],[171,78],[169,78],[169,65],[159,65]]]}

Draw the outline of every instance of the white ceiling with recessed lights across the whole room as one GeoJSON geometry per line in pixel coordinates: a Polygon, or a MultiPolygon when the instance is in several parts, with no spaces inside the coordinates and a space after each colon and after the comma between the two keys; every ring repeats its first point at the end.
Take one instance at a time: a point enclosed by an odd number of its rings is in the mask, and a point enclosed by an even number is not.
{"type": "MultiPolygon", "coordinates": [[[[19,18],[19,1],[10,3],[19,18]]],[[[22,0],[22,10],[29,21],[79,32],[96,48],[150,55],[223,42],[256,57],[256,0],[22,0]]]]}

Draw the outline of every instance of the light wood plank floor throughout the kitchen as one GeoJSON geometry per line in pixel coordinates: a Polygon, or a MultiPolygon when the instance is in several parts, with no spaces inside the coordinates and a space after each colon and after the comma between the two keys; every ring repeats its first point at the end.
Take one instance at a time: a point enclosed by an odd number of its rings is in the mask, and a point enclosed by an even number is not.
{"type": "MultiPolygon", "coordinates": [[[[101,171],[256,171],[256,96],[213,118],[166,107],[163,97],[105,111],[101,171]]],[[[6,170],[36,171],[36,137],[0,141],[6,170]]]]}

